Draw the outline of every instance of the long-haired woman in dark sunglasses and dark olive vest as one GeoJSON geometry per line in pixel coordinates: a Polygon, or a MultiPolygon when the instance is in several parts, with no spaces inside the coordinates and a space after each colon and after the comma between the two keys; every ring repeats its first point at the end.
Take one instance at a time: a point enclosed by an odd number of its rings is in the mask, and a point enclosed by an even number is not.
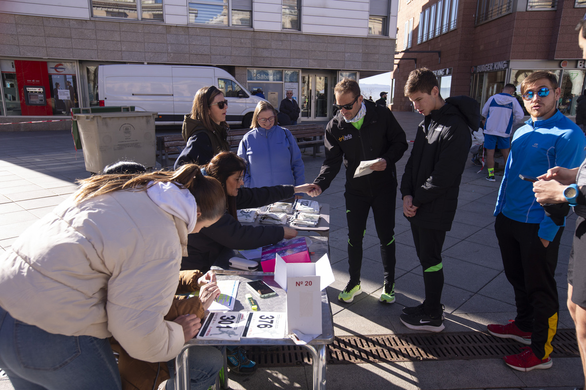
{"type": "Polygon", "coordinates": [[[181,135],[187,146],[175,161],[175,169],[183,164],[207,164],[220,151],[230,150],[227,142],[228,101],[220,89],[204,87],[196,92],[191,112],[185,115],[181,135]]]}

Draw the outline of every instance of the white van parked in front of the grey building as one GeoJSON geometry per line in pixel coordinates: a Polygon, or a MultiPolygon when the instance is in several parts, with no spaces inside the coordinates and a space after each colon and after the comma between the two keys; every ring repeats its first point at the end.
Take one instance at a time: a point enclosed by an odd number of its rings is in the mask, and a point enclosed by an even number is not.
{"type": "Polygon", "coordinates": [[[136,111],[158,112],[156,125],[181,125],[191,112],[193,96],[215,85],[228,101],[229,125],[250,127],[261,98],[251,96],[234,77],[214,67],[176,65],[100,65],[100,106],[135,106],[136,111]]]}

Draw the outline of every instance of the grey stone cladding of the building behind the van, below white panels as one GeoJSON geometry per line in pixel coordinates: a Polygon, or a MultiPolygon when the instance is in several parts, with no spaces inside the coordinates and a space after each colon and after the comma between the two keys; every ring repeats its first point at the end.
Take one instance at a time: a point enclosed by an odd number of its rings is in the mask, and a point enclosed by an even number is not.
{"type": "MultiPolygon", "coordinates": [[[[0,54],[31,59],[128,61],[235,67],[389,71],[394,40],[299,32],[172,26],[161,23],[66,19],[0,13],[0,54]]],[[[1,117],[0,123],[47,117],[1,117]]],[[[63,117],[54,119],[65,119],[63,117]]],[[[69,129],[71,122],[1,125],[0,132],[69,129]]]]}

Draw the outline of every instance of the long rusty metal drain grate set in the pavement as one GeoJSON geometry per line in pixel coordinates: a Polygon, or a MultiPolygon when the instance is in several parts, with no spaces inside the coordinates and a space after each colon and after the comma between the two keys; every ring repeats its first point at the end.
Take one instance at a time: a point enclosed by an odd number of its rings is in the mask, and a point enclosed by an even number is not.
{"type": "MultiPolygon", "coordinates": [[[[574,329],[558,329],[551,357],[578,357],[574,329]]],[[[328,364],[391,361],[468,360],[500,358],[519,353],[522,344],[481,332],[439,334],[379,334],[340,336],[328,346],[328,364]]],[[[311,364],[311,354],[298,346],[249,347],[248,357],[259,367],[311,364]]]]}

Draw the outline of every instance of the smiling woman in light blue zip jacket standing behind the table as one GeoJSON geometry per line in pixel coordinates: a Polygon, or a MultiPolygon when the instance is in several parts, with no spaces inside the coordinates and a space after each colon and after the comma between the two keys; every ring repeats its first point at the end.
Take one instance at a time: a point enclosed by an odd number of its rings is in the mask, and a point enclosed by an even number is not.
{"type": "MultiPolygon", "coordinates": [[[[238,156],[248,163],[244,187],[302,185],[305,167],[301,150],[291,132],[277,125],[277,112],[271,103],[258,102],[251,126],[238,147],[238,156]]],[[[296,194],[295,198],[302,195],[296,194]]]]}

